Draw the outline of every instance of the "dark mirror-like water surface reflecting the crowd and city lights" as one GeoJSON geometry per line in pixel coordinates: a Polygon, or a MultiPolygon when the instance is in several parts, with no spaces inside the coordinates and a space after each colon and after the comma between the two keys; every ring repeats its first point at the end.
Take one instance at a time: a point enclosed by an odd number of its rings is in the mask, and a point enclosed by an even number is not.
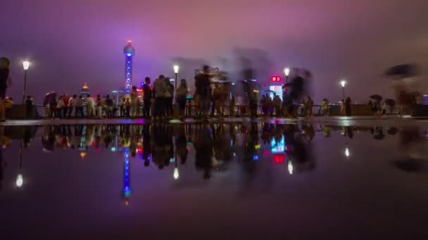
{"type": "Polygon", "coordinates": [[[0,128],[1,239],[424,236],[425,131],[0,128]]]}

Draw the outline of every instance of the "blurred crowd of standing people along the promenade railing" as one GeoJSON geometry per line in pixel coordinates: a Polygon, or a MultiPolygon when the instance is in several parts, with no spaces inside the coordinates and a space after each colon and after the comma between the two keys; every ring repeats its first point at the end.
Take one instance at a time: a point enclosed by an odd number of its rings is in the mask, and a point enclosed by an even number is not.
{"type": "MultiPolygon", "coordinates": [[[[119,98],[116,102],[110,95],[46,95],[44,99],[45,116],[50,118],[114,118],[117,116],[134,118],[144,117],[163,119],[172,116],[184,118],[194,116],[197,119],[207,119],[208,116],[229,116],[244,114],[246,106],[237,107],[235,97],[230,90],[228,81],[212,81],[209,74],[209,66],[203,66],[202,71],[194,77],[194,96],[188,99],[189,88],[187,81],[181,79],[177,90],[170,78],[164,75],[158,76],[151,84],[151,79],[146,77],[141,90],[133,86],[130,93],[119,98]],[[142,94],[140,94],[142,92],[142,94]],[[173,103],[177,108],[173,108],[173,103]],[[227,106],[226,103],[229,103],[227,106]],[[191,107],[190,107],[191,106],[191,107]],[[227,109],[228,107],[228,109],[227,109]],[[192,111],[193,110],[193,111],[192,111]],[[177,111],[177,112],[174,112],[177,111]]],[[[295,116],[294,101],[300,100],[303,94],[303,78],[297,76],[290,84],[284,84],[283,88],[289,88],[289,94],[282,100],[275,95],[273,100],[269,95],[263,95],[258,101],[258,91],[253,91],[247,81],[244,83],[244,92],[247,93],[248,110],[250,116],[258,116],[258,107],[261,105],[265,116],[295,116]],[[247,86],[247,87],[246,87],[247,86]]],[[[306,97],[304,101],[304,116],[312,116],[313,100],[306,97]]]]}

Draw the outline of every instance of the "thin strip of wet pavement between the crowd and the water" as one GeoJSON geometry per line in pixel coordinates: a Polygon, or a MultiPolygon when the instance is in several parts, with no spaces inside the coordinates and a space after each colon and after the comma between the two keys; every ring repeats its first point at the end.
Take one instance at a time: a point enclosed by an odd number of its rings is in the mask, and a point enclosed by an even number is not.
{"type": "MultiPolygon", "coordinates": [[[[399,116],[329,116],[329,117],[313,117],[313,118],[298,118],[298,119],[285,119],[285,118],[256,118],[250,119],[247,117],[239,118],[211,118],[208,120],[210,123],[241,123],[249,121],[269,122],[276,124],[296,124],[298,122],[316,123],[316,124],[334,124],[341,126],[362,126],[362,125],[428,125],[428,119],[412,119],[402,118],[399,116]]],[[[196,124],[201,123],[201,120],[179,119],[170,120],[148,120],[148,119],[38,119],[38,120],[8,120],[0,123],[0,126],[44,126],[44,125],[75,125],[75,124],[196,124]]]]}

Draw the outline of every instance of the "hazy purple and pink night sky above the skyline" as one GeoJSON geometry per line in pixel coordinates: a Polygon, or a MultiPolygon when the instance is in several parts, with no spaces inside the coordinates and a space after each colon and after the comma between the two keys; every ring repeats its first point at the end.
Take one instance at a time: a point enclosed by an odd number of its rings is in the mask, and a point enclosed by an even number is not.
{"type": "Polygon", "coordinates": [[[28,94],[38,102],[46,91],[78,93],[85,81],[93,92],[121,88],[127,40],[137,51],[134,84],[173,76],[175,62],[186,79],[203,62],[237,72],[244,54],[266,84],[286,66],[306,67],[315,100],[338,100],[345,78],[347,95],[362,101],[392,95],[382,72],[406,62],[420,65],[418,88],[428,93],[427,9],[427,0],[8,0],[0,55],[11,59],[15,99],[21,62],[32,62],[28,94]]]}

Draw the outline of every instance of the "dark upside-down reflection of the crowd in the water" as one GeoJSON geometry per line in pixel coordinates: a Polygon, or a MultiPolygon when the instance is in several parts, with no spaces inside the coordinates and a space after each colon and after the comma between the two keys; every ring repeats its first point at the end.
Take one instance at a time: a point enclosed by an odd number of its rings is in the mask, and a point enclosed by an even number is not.
{"type": "MultiPolygon", "coordinates": [[[[288,164],[289,173],[312,171],[315,158],[312,141],[315,135],[329,138],[339,132],[346,142],[354,133],[370,133],[375,140],[387,135],[399,134],[403,151],[415,152],[415,146],[424,139],[419,128],[395,128],[382,126],[333,126],[322,124],[274,124],[248,122],[232,124],[138,124],[138,125],[58,125],[58,126],[6,126],[0,128],[0,182],[8,165],[3,157],[4,149],[12,145],[11,139],[20,140],[21,152],[32,145],[37,131],[42,130],[44,152],[58,149],[76,149],[76,156],[84,158],[101,149],[126,152],[130,159],[139,158],[144,166],[156,166],[162,170],[170,165],[187,164],[189,152],[194,151],[194,163],[203,178],[211,178],[213,171],[226,171],[230,161],[237,161],[246,173],[255,173],[258,161],[272,159],[275,164],[288,164]],[[316,134],[318,133],[318,134],[316,134]],[[92,151],[91,151],[92,150],[92,151]],[[95,151],[94,151],[95,150],[95,151]]],[[[39,138],[39,139],[40,139],[39,138]]],[[[423,147],[423,145],[419,145],[423,147]]],[[[422,151],[423,152],[423,151],[422,151]]],[[[418,152],[416,152],[418,153],[418,152]]],[[[193,154],[193,153],[192,153],[193,154]]],[[[419,151],[420,154],[420,151],[419,151]]],[[[193,157],[193,156],[192,156],[193,157]]],[[[412,156],[413,157],[413,156],[412,156]]],[[[415,159],[415,157],[413,157],[415,159]]],[[[20,160],[21,162],[21,160],[20,160]]],[[[419,164],[419,163],[417,163],[419,164]]],[[[405,171],[415,168],[413,161],[399,161],[398,168],[405,171]],[[411,166],[408,166],[410,163],[411,166]]],[[[1,185],[0,185],[1,187],[1,185]]]]}

